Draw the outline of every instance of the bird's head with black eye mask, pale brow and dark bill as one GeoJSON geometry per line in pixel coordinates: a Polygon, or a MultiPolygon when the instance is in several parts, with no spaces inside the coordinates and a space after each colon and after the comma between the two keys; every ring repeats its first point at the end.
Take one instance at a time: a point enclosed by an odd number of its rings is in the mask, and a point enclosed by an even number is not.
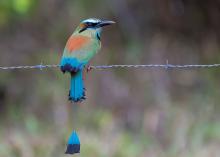
{"type": "Polygon", "coordinates": [[[114,21],[108,21],[108,20],[100,20],[96,18],[89,18],[86,20],[83,20],[79,26],[77,27],[77,33],[95,33],[97,37],[100,39],[100,33],[102,31],[102,27],[108,26],[111,24],[114,24],[114,21]]]}

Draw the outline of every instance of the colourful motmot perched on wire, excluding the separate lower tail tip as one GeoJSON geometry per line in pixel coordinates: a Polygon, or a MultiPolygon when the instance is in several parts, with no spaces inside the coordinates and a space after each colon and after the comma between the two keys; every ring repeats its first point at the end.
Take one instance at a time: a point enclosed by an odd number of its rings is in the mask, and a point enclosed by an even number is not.
{"type": "Polygon", "coordinates": [[[83,20],[68,39],[60,68],[63,73],[71,75],[70,101],[80,102],[85,99],[83,71],[101,48],[102,28],[113,23],[115,22],[97,18],[83,20]]]}

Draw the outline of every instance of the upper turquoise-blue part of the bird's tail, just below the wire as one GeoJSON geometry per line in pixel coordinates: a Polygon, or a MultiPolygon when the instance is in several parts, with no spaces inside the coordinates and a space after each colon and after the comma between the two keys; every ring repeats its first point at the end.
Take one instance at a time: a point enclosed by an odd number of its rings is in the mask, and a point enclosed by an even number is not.
{"type": "Polygon", "coordinates": [[[71,74],[71,85],[69,100],[78,102],[85,99],[85,88],[82,78],[82,70],[79,70],[77,73],[71,74]]]}

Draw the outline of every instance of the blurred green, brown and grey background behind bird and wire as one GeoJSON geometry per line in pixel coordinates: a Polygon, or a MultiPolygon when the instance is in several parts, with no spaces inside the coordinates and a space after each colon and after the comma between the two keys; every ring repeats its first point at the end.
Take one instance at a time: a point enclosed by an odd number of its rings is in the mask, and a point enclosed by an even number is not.
{"type": "MultiPolygon", "coordinates": [[[[220,63],[219,0],[0,0],[0,65],[58,64],[86,18],[114,20],[92,65],[220,63]]],[[[0,156],[219,157],[220,69],[108,69],[68,99],[59,69],[0,71],[0,156]]]]}

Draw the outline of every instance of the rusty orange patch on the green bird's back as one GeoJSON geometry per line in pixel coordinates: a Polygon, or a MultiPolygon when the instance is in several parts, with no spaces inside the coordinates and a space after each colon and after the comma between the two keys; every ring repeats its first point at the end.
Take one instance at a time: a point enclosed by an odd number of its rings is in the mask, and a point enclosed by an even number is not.
{"type": "Polygon", "coordinates": [[[90,38],[85,36],[71,36],[67,41],[66,48],[69,52],[73,52],[82,48],[88,43],[90,38]]]}

